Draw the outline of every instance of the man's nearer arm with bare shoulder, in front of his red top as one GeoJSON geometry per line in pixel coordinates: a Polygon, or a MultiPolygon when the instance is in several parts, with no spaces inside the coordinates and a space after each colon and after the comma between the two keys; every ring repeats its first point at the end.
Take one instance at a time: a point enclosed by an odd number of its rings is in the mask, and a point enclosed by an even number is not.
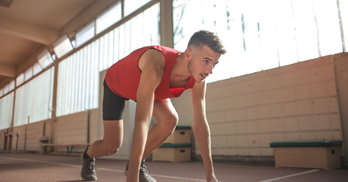
{"type": "Polygon", "coordinates": [[[139,68],[142,70],[142,73],[136,94],[135,124],[129,156],[127,182],[137,182],[139,178],[140,163],[152,116],[155,89],[163,77],[164,65],[164,55],[157,50],[148,50],[139,59],[139,68]]]}

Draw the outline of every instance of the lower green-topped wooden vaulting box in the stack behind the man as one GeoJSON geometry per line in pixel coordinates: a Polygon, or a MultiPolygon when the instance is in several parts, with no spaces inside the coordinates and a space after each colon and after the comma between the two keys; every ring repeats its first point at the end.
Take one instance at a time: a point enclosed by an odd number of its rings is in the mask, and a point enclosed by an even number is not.
{"type": "Polygon", "coordinates": [[[191,144],[162,144],[152,152],[152,161],[182,162],[191,160],[191,144]]]}

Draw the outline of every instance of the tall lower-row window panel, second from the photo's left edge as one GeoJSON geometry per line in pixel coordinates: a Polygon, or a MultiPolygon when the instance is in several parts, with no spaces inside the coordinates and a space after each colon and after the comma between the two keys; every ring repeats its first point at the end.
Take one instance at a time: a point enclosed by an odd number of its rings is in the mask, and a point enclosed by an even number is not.
{"type": "Polygon", "coordinates": [[[52,117],[54,67],[16,89],[14,126],[52,117]]]}

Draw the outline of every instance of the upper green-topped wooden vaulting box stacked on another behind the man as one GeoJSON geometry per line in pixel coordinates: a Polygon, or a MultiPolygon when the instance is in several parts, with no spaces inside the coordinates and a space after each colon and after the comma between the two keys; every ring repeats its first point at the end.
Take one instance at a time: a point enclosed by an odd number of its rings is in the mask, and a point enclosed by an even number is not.
{"type": "Polygon", "coordinates": [[[164,143],[191,143],[190,130],[190,126],[176,126],[172,135],[164,143]]]}

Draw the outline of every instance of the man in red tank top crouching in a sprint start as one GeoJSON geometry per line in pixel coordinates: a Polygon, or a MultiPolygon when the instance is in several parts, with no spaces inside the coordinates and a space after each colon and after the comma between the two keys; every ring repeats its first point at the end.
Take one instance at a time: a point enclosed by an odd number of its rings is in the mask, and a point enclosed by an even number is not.
{"type": "Polygon", "coordinates": [[[156,182],[144,166],[144,159],[172,134],[178,122],[169,98],[191,89],[193,132],[203,159],[206,180],[215,182],[210,131],[205,115],[205,78],[212,74],[226,50],[214,33],[200,30],[189,40],[185,52],[164,46],[135,50],[112,65],[105,75],[103,96],[104,137],[82,154],[81,177],[96,180],[95,157],[109,156],[122,144],[125,100],[137,102],[129,162],[128,182],[156,182]],[[156,124],[149,130],[151,116],[156,124]]]}

